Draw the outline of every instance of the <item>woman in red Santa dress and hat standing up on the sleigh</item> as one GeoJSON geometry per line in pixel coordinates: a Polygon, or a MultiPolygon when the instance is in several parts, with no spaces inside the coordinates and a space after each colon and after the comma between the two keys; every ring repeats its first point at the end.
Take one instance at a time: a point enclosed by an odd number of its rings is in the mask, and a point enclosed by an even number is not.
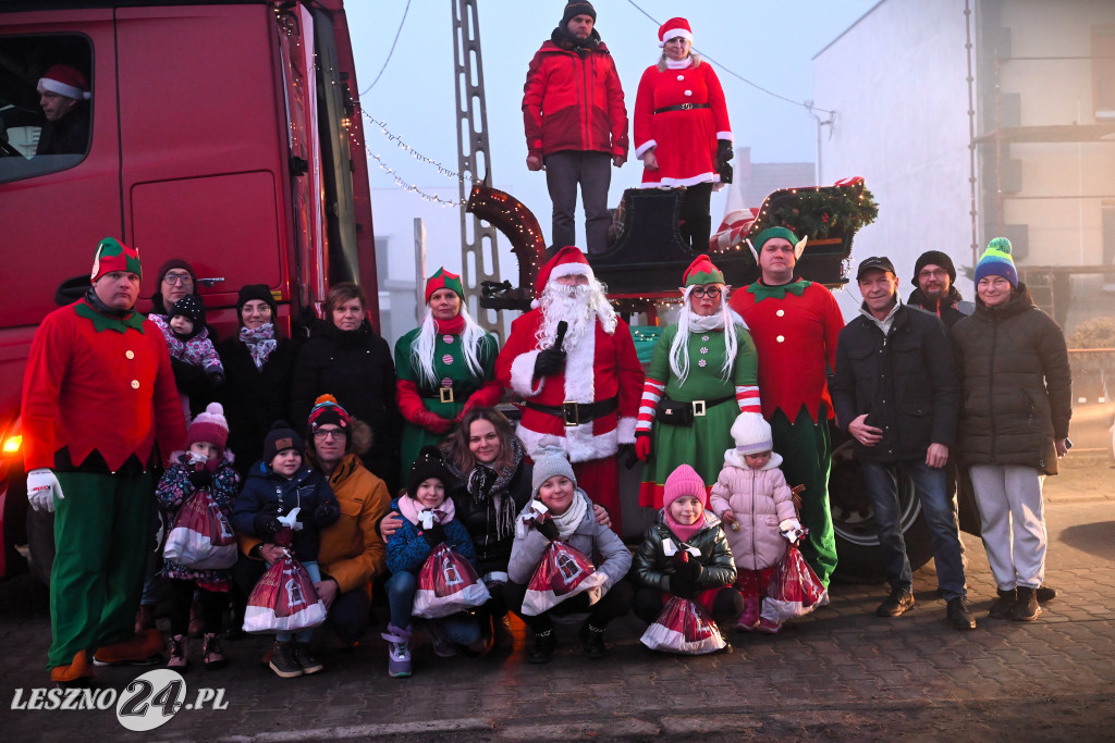
{"type": "Polygon", "coordinates": [[[658,29],[662,57],[639,81],[634,141],[643,188],[686,188],[679,229],[702,253],[712,228],[709,198],[733,157],[733,137],[720,80],[692,53],[692,38],[685,18],[658,29]]]}

